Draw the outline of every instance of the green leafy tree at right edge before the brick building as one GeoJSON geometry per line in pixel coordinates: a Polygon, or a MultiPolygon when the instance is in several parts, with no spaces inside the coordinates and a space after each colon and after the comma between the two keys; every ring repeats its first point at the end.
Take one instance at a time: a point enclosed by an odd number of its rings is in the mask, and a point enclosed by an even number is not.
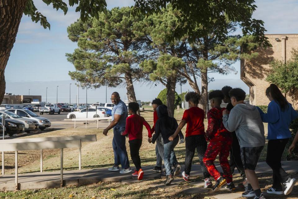
{"type": "Polygon", "coordinates": [[[270,63],[271,72],[266,81],[276,84],[283,93],[292,96],[292,101],[297,99],[298,91],[298,50],[291,51],[292,57],[287,63],[274,60],[270,63]]]}

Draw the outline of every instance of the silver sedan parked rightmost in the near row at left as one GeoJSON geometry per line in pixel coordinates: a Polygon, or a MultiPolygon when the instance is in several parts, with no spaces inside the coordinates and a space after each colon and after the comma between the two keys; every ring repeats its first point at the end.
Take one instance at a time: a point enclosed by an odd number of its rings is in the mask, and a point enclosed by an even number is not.
{"type": "Polygon", "coordinates": [[[29,118],[34,119],[38,122],[39,129],[43,130],[47,127],[51,126],[51,122],[44,117],[40,117],[33,113],[31,110],[24,110],[24,109],[8,109],[8,111],[15,113],[16,115],[21,116],[22,118],[29,118]]]}

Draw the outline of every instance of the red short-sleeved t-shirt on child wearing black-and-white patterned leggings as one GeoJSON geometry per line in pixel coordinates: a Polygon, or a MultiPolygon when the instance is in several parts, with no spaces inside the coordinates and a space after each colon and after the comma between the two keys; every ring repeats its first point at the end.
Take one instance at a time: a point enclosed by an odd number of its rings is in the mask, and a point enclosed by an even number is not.
{"type": "Polygon", "coordinates": [[[187,122],[185,137],[204,135],[204,118],[204,110],[199,107],[191,107],[185,110],[182,117],[182,120],[184,119],[187,122]]]}

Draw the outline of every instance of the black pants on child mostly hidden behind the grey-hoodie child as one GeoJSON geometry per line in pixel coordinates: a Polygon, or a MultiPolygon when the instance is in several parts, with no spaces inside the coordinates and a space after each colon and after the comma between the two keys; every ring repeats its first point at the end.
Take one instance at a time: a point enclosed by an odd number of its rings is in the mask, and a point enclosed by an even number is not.
{"type": "Polygon", "coordinates": [[[234,173],[235,168],[237,168],[238,172],[242,177],[245,177],[245,171],[241,160],[240,154],[240,145],[238,138],[236,136],[236,132],[232,132],[233,143],[230,149],[230,168],[232,173],[234,173]]]}

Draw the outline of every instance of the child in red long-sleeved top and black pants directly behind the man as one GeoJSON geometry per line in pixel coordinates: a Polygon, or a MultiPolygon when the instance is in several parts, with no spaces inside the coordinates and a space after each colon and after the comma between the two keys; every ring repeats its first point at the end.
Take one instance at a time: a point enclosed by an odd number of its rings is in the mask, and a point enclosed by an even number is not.
{"type": "Polygon", "coordinates": [[[146,120],[143,117],[137,114],[138,110],[138,103],[130,102],[128,104],[128,111],[130,116],[126,119],[125,131],[122,132],[121,135],[129,136],[130,156],[133,160],[133,164],[136,167],[135,172],[132,175],[138,176],[138,180],[142,180],[144,172],[141,167],[139,150],[142,145],[143,125],[147,128],[148,137],[152,137],[152,135],[150,125],[146,122],[146,120]]]}

